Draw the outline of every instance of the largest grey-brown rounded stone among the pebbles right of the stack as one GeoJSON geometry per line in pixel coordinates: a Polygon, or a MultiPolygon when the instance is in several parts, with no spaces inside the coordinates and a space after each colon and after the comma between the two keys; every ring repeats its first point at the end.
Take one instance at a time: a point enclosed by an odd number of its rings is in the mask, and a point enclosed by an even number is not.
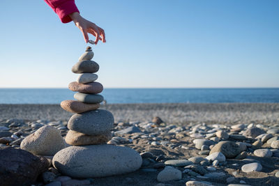
{"type": "Polygon", "coordinates": [[[218,152],[223,153],[227,158],[234,158],[241,153],[241,149],[238,144],[232,141],[220,141],[210,150],[209,155],[218,152]]]}

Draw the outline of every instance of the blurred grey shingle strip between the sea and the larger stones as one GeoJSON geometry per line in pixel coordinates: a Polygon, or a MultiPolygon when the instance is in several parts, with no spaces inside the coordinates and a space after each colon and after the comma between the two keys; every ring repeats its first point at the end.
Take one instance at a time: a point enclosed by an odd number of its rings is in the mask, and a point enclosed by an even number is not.
{"type": "MultiPolygon", "coordinates": [[[[279,124],[279,103],[156,103],[107,104],[119,121],[151,121],[159,116],[166,123],[263,123],[279,124]]],[[[59,104],[0,104],[0,121],[20,118],[27,121],[68,121],[72,113],[59,104]]]]}

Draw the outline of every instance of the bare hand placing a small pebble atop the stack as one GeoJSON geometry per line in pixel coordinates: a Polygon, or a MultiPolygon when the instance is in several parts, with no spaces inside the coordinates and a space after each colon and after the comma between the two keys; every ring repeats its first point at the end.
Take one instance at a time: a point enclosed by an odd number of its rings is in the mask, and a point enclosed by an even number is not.
{"type": "Polygon", "coordinates": [[[84,19],[79,13],[71,13],[70,18],[75,23],[75,26],[82,31],[85,42],[87,43],[89,40],[88,34],[91,33],[96,37],[95,45],[97,45],[99,40],[106,42],[105,40],[105,31],[94,24],[93,22],[89,22],[89,20],[84,19]]]}

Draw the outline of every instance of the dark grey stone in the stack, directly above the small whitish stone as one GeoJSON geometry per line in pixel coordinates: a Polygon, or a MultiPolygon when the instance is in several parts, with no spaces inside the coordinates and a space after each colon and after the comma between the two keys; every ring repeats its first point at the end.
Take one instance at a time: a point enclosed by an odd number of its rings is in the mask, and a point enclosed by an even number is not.
{"type": "Polygon", "coordinates": [[[81,73],[95,73],[98,72],[99,65],[95,61],[79,61],[73,65],[72,72],[76,74],[81,73]]]}

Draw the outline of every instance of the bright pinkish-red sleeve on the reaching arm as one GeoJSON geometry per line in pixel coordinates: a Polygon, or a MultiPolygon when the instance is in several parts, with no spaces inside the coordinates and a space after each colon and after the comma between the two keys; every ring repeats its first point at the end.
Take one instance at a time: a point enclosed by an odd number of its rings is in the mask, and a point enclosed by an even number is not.
{"type": "Polygon", "coordinates": [[[75,6],[75,0],[44,0],[54,12],[59,16],[61,22],[71,22],[72,19],[68,16],[71,13],[80,13],[75,6]]]}

